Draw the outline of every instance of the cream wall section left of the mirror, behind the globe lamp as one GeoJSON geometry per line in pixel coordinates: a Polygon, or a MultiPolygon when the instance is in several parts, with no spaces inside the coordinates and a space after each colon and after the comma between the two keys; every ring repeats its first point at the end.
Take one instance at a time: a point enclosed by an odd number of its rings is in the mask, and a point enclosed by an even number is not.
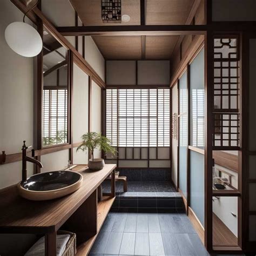
{"type": "MultiPolygon", "coordinates": [[[[22,141],[33,145],[33,59],[17,55],[5,42],[4,31],[23,14],[9,0],[0,8],[0,152],[18,153],[22,141]]],[[[21,162],[0,165],[0,188],[21,180],[21,162]]],[[[32,165],[28,165],[29,174],[32,165]]]]}

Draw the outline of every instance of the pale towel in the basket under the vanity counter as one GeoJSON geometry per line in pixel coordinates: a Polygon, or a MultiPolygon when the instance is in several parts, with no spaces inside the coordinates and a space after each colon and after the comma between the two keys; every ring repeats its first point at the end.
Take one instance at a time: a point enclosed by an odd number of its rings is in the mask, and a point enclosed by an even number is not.
{"type": "MultiPolygon", "coordinates": [[[[66,248],[66,243],[69,241],[69,234],[57,235],[57,256],[61,256],[66,248]]],[[[26,252],[25,256],[44,256],[44,240],[45,237],[41,237],[30,249],[26,252]]]]}

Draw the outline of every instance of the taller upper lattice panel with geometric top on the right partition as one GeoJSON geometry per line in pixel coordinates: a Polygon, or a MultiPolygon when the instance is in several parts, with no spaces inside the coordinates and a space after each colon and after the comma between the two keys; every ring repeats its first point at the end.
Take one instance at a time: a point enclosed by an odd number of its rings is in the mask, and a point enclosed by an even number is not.
{"type": "Polygon", "coordinates": [[[214,109],[239,112],[238,38],[214,39],[214,109]]]}

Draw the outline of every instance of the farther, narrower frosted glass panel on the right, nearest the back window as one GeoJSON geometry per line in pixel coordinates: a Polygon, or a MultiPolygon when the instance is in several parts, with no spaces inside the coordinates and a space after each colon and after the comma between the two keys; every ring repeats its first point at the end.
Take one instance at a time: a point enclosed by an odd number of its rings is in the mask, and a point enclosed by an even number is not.
{"type": "Polygon", "coordinates": [[[179,79],[179,188],[187,197],[187,71],[179,79]]]}

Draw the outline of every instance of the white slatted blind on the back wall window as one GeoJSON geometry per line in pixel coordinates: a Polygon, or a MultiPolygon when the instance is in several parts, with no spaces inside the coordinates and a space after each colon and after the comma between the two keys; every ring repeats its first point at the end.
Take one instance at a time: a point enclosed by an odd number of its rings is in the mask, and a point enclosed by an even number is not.
{"type": "Polygon", "coordinates": [[[170,146],[170,89],[107,89],[106,137],[117,147],[170,146]]]}

